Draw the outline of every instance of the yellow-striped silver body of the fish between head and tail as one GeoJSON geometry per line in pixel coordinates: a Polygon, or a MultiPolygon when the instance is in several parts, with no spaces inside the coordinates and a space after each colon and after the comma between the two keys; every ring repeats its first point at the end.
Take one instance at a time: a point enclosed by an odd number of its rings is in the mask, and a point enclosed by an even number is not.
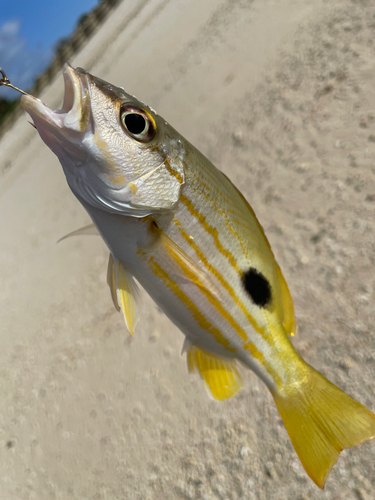
{"type": "MultiPolygon", "coordinates": [[[[265,360],[277,360],[283,349],[290,348],[289,341],[282,324],[278,325],[284,334],[281,340],[270,340],[269,325],[275,328],[279,322],[278,304],[274,299],[268,307],[257,307],[244,288],[243,273],[256,267],[281,295],[279,268],[261,227],[233,184],[186,140],[178,140],[184,151],[185,183],[173,213],[108,217],[81,202],[112,255],[194,345],[240,359],[272,387],[275,369],[265,360]],[[152,230],[153,225],[158,230],[152,230]],[[158,244],[160,232],[202,268],[207,284],[204,278],[202,283],[192,279],[192,270],[158,244]]],[[[282,364],[277,373],[283,379],[287,376],[282,364]]]]}

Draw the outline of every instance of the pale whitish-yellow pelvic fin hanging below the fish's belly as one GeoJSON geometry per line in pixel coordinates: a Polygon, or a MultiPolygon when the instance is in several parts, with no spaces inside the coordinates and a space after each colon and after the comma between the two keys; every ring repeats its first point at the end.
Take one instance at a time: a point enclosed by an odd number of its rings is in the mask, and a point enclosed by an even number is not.
{"type": "Polygon", "coordinates": [[[111,290],[113,304],[122,311],[130,335],[133,335],[136,323],[136,298],[138,289],[132,275],[124,269],[121,262],[109,255],[107,283],[111,290]]]}

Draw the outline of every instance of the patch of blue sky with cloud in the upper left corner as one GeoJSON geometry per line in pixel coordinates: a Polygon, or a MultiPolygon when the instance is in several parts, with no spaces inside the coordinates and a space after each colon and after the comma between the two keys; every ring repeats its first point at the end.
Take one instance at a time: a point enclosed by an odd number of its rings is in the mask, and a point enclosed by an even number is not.
{"type": "MultiPolygon", "coordinates": [[[[53,57],[56,42],[69,36],[79,17],[98,0],[0,0],[0,67],[14,85],[27,89],[53,57]]],[[[14,99],[0,87],[0,97],[14,99]]]]}

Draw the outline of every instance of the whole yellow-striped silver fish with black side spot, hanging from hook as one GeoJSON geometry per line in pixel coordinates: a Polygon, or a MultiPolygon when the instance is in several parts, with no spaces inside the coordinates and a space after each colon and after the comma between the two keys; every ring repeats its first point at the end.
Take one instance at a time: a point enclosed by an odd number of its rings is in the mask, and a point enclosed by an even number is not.
{"type": "Polygon", "coordinates": [[[109,249],[108,284],[129,333],[136,280],[184,334],[188,371],[214,399],[243,389],[241,366],[260,377],[324,488],[340,452],[375,436],[375,415],[293,346],[292,296],[249,203],[123,88],[69,64],[63,78],[61,109],[30,95],[21,104],[92,220],[82,232],[97,230],[109,249]]]}

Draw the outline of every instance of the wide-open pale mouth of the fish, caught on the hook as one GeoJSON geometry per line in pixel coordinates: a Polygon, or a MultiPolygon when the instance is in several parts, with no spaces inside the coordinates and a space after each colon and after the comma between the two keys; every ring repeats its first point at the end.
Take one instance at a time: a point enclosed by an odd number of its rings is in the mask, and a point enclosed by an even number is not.
{"type": "MultiPolygon", "coordinates": [[[[63,77],[65,91],[60,109],[54,111],[31,95],[21,97],[23,109],[29,113],[41,135],[59,137],[69,131],[82,133],[88,128],[91,114],[88,73],[66,63],[63,77]]],[[[69,136],[72,139],[71,134],[69,136]]]]}

